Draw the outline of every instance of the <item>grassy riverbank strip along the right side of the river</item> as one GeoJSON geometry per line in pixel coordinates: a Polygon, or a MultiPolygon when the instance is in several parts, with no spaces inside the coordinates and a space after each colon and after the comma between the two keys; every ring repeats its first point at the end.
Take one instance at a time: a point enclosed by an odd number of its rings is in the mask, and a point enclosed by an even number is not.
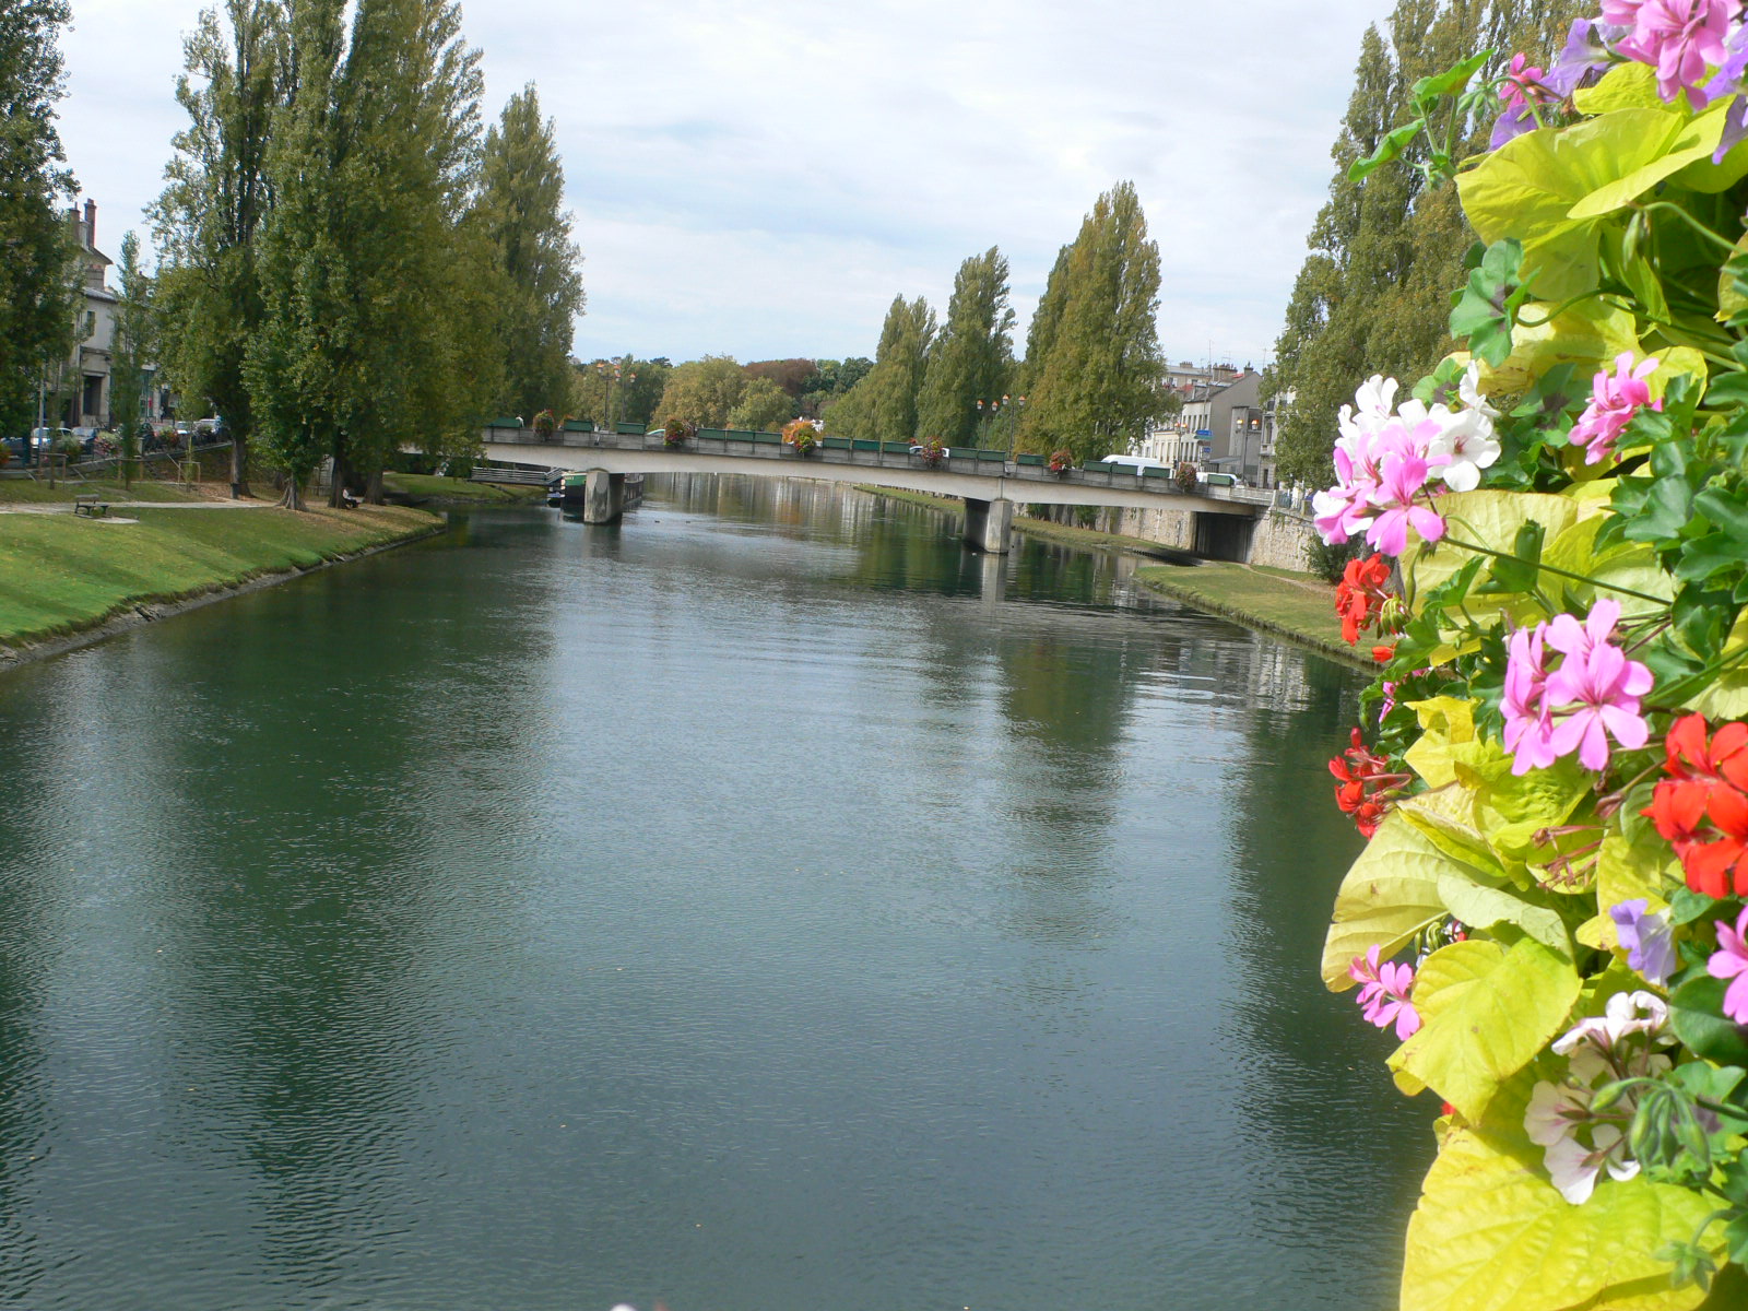
{"type": "MultiPolygon", "coordinates": [[[[958,496],[932,496],[923,491],[862,486],[876,496],[925,505],[942,514],[963,517],[958,496]]],[[[1049,519],[1016,516],[1014,528],[1026,537],[1080,547],[1086,551],[1112,551],[1157,561],[1166,547],[1140,537],[1101,533],[1092,528],[1075,528],[1049,519]]],[[[1189,601],[1201,610],[1236,619],[1238,622],[1273,633],[1274,636],[1311,647],[1342,664],[1372,669],[1363,652],[1341,638],[1335,619],[1335,589],[1311,573],[1252,568],[1229,561],[1206,559],[1196,565],[1143,565],[1134,572],[1136,582],[1150,591],[1189,601]]]]}

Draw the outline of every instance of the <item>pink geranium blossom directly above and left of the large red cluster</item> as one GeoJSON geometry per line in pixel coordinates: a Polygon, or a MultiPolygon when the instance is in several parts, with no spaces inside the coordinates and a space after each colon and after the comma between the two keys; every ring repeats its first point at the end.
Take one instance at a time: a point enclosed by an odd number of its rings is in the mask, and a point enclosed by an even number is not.
{"type": "Polygon", "coordinates": [[[1514,774],[1573,753],[1585,769],[1601,771],[1608,767],[1610,738],[1627,750],[1645,745],[1650,731],[1640,697],[1652,689],[1652,673],[1612,645],[1619,619],[1619,601],[1598,601],[1584,624],[1556,615],[1512,633],[1500,710],[1514,774]],[[1564,654],[1557,668],[1545,668],[1543,647],[1564,654]]]}

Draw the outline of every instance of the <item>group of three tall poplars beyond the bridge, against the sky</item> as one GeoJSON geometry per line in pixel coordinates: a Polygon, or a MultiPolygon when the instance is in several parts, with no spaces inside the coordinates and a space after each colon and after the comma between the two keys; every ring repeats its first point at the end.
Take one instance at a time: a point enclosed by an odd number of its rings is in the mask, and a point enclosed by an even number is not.
{"type": "Polygon", "coordinates": [[[827,411],[827,428],[970,446],[991,402],[1014,395],[1024,407],[1010,402],[996,421],[1016,449],[1086,460],[1127,449],[1166,404],[1154,322],[1159,246],[1134,185],[1099,196],[1058,253],[1017,362],[1007,297],[1009,264],[995,246],[960,266],[946,323],[923,297],[897,297],[874,369],[827,411]]]}

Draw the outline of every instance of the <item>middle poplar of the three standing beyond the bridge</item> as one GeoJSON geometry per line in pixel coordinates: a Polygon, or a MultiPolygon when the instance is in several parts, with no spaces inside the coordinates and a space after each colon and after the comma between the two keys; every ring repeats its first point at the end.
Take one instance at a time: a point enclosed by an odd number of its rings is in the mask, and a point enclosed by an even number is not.
{"type": "MultiPolygon", "coordinates": [[[[1007,392],[1014,365],[1014,311],[1007,304],[1007,259],[996,246],[960,264],[947,322],[928,353],[916,428],[947,446],[977,444],[977,402],[1007,392]]],[[[986,411],[988,413],[988,411],[986,411]]]]}

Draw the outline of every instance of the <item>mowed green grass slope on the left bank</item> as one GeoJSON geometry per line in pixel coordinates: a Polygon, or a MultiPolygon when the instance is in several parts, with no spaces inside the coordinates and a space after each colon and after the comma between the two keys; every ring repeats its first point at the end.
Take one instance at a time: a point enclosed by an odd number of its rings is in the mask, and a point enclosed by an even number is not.
{"type": "Polygon", "coordinates": [[[145,601],[234,587],[262,573],[418,537],[439,526],[393,505],[316,509],[112,510],[117,523],[73,514],[0,514],[0,645],[91,628],[145,601]]]}

